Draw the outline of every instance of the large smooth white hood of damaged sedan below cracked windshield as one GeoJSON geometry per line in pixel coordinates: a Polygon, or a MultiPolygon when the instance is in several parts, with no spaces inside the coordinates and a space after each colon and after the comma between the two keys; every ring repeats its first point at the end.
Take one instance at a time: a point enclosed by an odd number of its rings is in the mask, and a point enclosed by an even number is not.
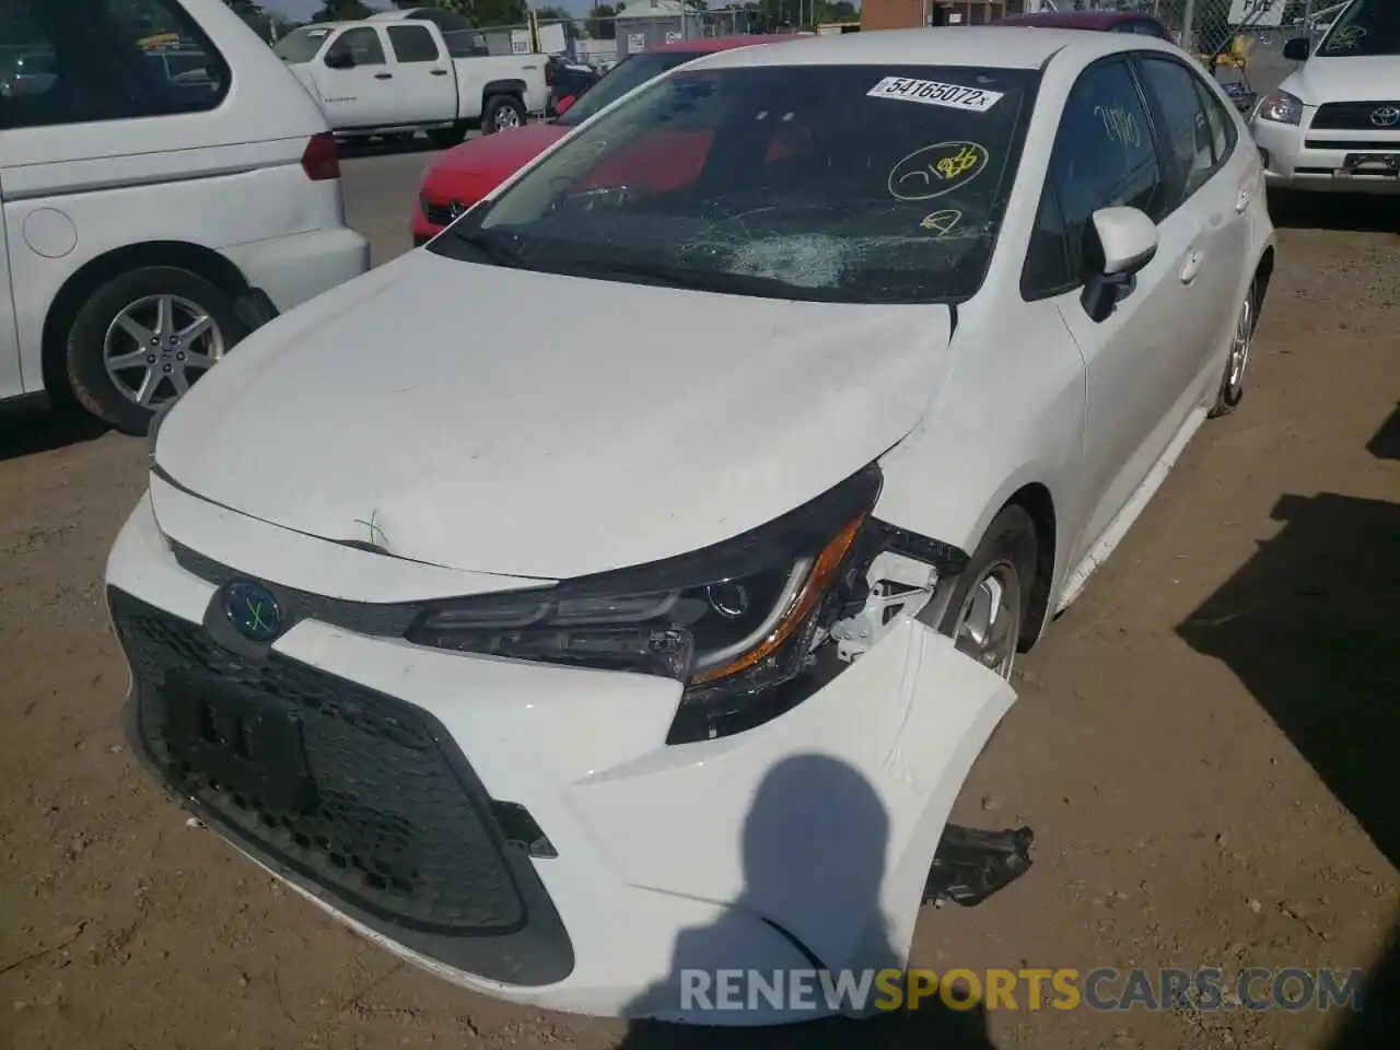
{"type": "Polygon", "coordinates": [[[155,461],[312,536],[582,575],[738,535],[879,458],[927,410],[949,321],[414,251],[241,343],[155,461]]]}

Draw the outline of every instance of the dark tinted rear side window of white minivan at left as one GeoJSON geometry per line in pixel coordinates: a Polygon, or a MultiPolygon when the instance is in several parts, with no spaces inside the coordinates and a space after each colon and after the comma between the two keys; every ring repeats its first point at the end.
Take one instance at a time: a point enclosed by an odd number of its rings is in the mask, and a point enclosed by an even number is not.
{"type": "Polygon", "coordinates": [[[0,129],[172,116],[216,108],[223,56],[178,0],[7,0],[0,129]]]}

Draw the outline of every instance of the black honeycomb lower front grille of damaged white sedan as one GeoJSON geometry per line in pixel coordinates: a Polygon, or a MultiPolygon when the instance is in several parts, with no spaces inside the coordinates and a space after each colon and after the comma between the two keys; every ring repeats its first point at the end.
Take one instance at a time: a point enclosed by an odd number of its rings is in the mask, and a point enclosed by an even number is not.
{"type": "Polygon", "coordinates": [[[396,927],[510,934],[525,903],[504,836],[430,717],[203,629],[119,591],[147,757],[223,830],[396,927]]]}

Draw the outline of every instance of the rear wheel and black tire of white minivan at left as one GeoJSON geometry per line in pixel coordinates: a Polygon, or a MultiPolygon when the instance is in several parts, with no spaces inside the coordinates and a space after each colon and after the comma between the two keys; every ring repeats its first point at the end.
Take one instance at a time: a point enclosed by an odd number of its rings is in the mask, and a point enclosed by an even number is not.
{"type": "Polygon", "coordinates": [[[174,266],[129,270],[74,314],[64,354],[69,385],[78,403],[113,430],[144,434],[155,409],[207,371],[196,356],[211,365],[245,335],[230,295],[197,273],[174,266]],[[207,325],[192,335],[197,318],[207,325]],[[143,339],[133,332],[144,332],[143,339]],[[161,342],[151,344],[155,339],[161,342]],[[109,358],[132,363],[109,368],[109,358]]]}

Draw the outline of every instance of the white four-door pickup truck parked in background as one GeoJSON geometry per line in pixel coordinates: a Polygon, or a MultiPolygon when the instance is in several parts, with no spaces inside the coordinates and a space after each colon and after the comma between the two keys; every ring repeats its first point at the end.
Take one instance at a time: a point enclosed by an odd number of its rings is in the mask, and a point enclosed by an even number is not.
{"type": "Polygon", "coordinates": [[[427,14],[385,11],[364,21],[314,22],[287,34],[274,50],[342,139],[421,130],[445,148],[462,141],[469,127],[498,132],[545,111],[543,55],[491,55],[482,29],[463,20],[444,31],[421,17],[427,14]]]}

